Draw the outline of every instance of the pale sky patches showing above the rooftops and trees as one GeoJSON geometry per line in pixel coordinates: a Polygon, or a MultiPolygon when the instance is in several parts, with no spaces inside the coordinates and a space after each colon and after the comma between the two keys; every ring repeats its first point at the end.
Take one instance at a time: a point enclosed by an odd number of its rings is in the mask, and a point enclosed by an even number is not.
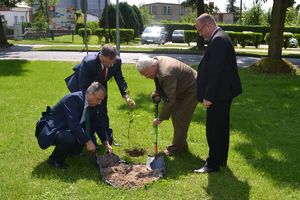
{"type": "MultiPolygon", "coordinates": [[[[247,8],[253,5],[253,0],[242,0],[243,5],[247,8]]],[[[115,3],[115,0],[111,0],[111,3],[115,3]]],[[[140,6],[142,4],[148,3],[181,3],[183,0],[119,0],[119,2],[127,2],[130,5],[140,6]]],[[[226,4],[228,4],[228,0],[204,0],[204,3],[214,2],[214,4],[220,9],[220,12],[225,12],[226,4]]],[[[300,0],[296,0],[297,4],[300,4],[300,0]]],[[[266,3],[263,4],[262,9],[268,10],[273,5],[273,0],[267,0],[266,3]]],[[[240,6],[240,0],[236,0],[236,6],[240,6]]]]}

